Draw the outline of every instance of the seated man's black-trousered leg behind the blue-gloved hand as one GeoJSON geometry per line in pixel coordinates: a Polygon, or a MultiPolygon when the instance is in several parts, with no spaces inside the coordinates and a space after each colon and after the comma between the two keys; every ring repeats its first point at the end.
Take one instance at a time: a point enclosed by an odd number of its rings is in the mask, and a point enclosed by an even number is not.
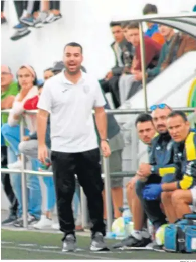
{"type": "Polygon", "coordinates": [[[161,225],[166,224],[165,215],[162,213],[160,208],[160,200],[146,200],[143,199],[143,189],[145,185],[152,183],[160,183],[161,177],[156,175],[151,175],[147,182],[137,181],[136,183],[136,193],[139,197],[144,212],[146,213],[148,219],[151,221],[155,229],[158,229],[161,225]]]}

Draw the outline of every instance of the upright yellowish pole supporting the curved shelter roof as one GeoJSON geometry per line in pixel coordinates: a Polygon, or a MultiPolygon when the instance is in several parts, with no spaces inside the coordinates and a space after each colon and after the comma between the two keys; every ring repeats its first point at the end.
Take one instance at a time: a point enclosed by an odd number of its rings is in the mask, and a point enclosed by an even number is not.
{"type": "Polygon", "coordinates": [[[145,112],[148,112],[148,101],[147,101],[147,90],[146,90],[145,44],[144,44],[142,22],[139,23],[139,32],[140,32],[140,54],[141,54],[141,65],[142,65],[142,86],[144,90],[144,107],[145,107],[145,112]]]}

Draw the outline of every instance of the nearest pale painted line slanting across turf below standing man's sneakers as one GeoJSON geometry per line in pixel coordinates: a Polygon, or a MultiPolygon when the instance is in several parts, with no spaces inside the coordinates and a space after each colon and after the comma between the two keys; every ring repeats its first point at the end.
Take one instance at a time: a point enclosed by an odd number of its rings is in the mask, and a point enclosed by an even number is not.
{"type": "MultiPolygon", "coordinates": [[[[15,247],[15,246],[2,246],[2,248],[7,249],[14,249],[14,250],[24,250],[29,252],[40,252],[40,253],[53,253],[53,254],[61,254],[61,255],[71,255],[75,257],[84,257],[84,258],[92,258],[92,259],[107,259],[107,260],[114,260],[113,257],[105,257],[105,256],[99,256],[99,252],[97,253],[97,256],[95,255],[88,255],[88,254],[76,254],[75,252],[60,252],[60,251],[52,251],[52,250],[42,250],[42,249],[31,249],[31,248],[25,248],[25,247],[15,247]]],[[[116,260],[116,259],[115,259],[116,260]]]]}

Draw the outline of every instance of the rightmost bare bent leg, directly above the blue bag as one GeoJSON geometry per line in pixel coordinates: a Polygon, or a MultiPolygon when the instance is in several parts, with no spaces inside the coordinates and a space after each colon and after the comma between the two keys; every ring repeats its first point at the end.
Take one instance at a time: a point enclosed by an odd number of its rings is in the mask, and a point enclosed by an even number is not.
{"type": "Polygon", "coordinates": [[[180,219],[185,214],[192,213],[189,205],[195,204],[196,188],[190,190],[177,189],[173,191],[171,201],[175,209],[176,219],[180,219]]]}

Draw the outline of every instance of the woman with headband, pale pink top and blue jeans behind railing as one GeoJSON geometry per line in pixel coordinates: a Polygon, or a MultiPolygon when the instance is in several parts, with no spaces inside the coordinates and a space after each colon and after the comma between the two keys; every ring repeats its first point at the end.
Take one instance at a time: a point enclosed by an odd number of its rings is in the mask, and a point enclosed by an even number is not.
{"type": "MultiPolygon", "coordinates": [[[[9,143],[10,150],[12,151],[12,162],[8,164],[9,169],[20,169],[22,162],[20,160],[20,152],[18,145],[20,143],[20,126],[18,122],[23,114],[24,103],[31,97],[38,94],[36,84],[36,73],[34,69],[29,65],[22,65],[17,72],[18,84],[20,88],[19,94],[15,97],[12,110],[9,113],[8,124],[4,124],[1,128],[4,139],[9,143]]],[[[25,128],[25,136],[30,132],[36,130],[36,116],[25,115],[25,122],[27,128],[25,128]]],[[[31,163],[29,169],[31,169],[31,163]]],[[[33,170],[37,170],[37,163],[32,161],[33,170]]],[[[12,174],[10,177],[12,188],[15,192],[17,200],[19,202],[18,212],[19,218],[15,221],[16,227],[23,226],[22,218],[22,196],[21,196],[21,176],[19,174],[12,174]]],[[[40,219],[41,215],[41,190],[39,179],[37,176],[27,176],[27,188],[29,193],[28,201],[28,223],[32,224],[40,219]]]]}

